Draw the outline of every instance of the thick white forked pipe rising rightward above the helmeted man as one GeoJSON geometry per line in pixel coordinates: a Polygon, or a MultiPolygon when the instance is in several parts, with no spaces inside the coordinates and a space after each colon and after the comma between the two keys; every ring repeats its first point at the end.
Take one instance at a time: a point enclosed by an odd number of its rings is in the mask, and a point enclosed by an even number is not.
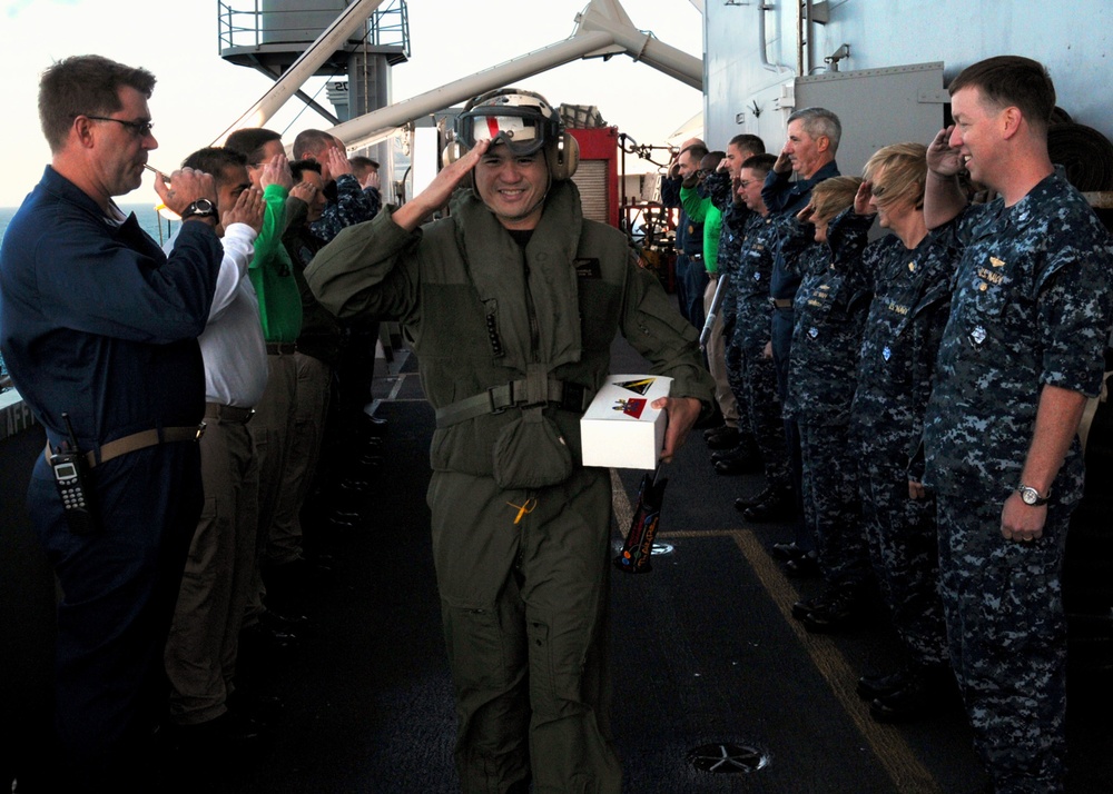
{"type": "MultiPolygon", "coordinates": [[[[572,36],[521,58],[485,69],[411,99],[373,110],[328,130],[348,148],[370,146],[437,110],[578,58],[626,52],[695,89],[703,89],[703,62],[633,27],[618,0],[591,0],[575,18],[572,36]]],[[[283,78],[285,79],[285,77],[283,78]]],[[[292,92],[293,93],[293,92],[292,92]]]]}

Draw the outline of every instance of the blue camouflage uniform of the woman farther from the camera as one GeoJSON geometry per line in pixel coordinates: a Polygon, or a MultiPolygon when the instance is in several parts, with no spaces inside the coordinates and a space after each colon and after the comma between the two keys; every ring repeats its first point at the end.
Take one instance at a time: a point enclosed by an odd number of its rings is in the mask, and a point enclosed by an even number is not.
{"type": "Polygon", "coordinates": [[[838,586],[869,575],[849,426],[870,298],[861,252],[873,220],[844,210],[830,221],[827,242],[808,246],[791,265],[801,280],[785,414],[800,431],[804,518],[824,578],[838,586]]]}

